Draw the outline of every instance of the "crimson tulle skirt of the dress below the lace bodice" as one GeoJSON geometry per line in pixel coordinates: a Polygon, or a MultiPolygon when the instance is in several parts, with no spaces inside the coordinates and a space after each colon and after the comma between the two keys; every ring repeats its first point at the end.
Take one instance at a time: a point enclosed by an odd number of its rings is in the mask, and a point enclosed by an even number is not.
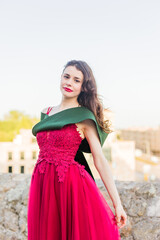
{"type": "Polygon", "coordinates": [[[76,165],[58,182],[55,165],[35,166],[28,195],[28,240],[120,240],[115,216],[98,186],[76,165]]]}

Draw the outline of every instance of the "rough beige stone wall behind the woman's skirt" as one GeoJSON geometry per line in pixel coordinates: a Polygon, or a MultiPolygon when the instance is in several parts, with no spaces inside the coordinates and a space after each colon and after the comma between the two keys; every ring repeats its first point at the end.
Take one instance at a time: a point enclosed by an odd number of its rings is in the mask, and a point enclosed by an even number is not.
{"type": "MultiPolygon", "coordinates": [[[[27,240],[30,179],[30,174],[0,174],[0,240],[27,240]]],[[[114,211],[102,181],[96,183],[114,211]]],[[[160,182],[116,181],[116,186],[128,216],[122,240],[160,240],[160,182]]]]}

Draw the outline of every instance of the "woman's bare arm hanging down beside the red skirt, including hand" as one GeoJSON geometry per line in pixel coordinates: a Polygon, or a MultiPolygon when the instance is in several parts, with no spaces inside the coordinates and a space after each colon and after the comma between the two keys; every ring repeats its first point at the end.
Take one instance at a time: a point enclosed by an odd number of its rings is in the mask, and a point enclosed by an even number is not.
{"type": "Polygon", "coordinates": [[[121,200],[108,164],[107,159],[105,158],[102,147],[100,144],[98,132],[96,129],[95,123],[91,119],[86,119],[83,121],[83,131],[84,135],[88,141],[88,144],[90,146],[92,156],[93,156],[93,161],[94,165],[97,169],[97,171],[100,174],[100,177],[109,193],[109,196],[113,202],[113,206],[116,210],[116,217],[117,217],[117,222],[120,222],[120,218],[123,218],[124,226],[126,223],[126,214],[123,210],[121,200]],[[121,216],[120,216],[121,215],[121,216]]]}

